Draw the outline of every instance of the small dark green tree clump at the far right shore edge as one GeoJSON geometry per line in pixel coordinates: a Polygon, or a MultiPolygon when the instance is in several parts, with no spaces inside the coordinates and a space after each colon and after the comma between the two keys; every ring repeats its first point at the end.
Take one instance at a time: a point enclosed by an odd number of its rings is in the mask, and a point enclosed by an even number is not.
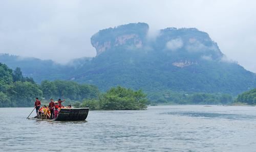
{"type": "Polygon", "coordinates": [[[248,105],[255,105],[256,104],[256,88],[246,91],[242,94],[238,95],[236,102],[245,103],[248,105]]]}

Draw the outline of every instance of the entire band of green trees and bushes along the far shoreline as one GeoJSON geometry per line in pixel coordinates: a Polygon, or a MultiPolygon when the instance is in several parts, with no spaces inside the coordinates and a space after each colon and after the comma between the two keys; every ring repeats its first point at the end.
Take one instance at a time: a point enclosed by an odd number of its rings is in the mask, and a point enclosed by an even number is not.
{"type": "Polygon", "coordinates": [[[65,98],[65,105],[91,110],[145,110],[148,105],[227,105],[253,106],[256,89],[234,97],[223,93],[134,91],[121,86],[100,92],[94,85],[73,81],[42,81],[36,84],[32,78],[23,77],[20,68],[12,70],[0,63],[0,107],[33,107],[34,99],[48,105],[49,99],[65,98]]]}

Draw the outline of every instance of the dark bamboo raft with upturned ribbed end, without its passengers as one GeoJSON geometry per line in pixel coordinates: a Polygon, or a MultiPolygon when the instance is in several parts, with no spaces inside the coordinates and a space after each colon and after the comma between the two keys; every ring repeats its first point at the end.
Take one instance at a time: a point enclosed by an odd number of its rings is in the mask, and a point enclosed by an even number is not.
{"type": "Polygon", "coordinates": [[[60,109],[58,116],[54,119],[46,119],[44,117],[28,119],[46,121],[79,121],[86,120],[88,113],[89,108],[60,109]]]}

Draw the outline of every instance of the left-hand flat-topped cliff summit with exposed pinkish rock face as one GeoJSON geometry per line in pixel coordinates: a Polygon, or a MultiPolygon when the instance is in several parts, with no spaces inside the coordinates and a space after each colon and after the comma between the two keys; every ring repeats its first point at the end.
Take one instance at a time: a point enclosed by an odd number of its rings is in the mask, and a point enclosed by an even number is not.
{"type": "Polygon", "coordinates": [[[148,31],[146,23],[130,23],[116,28],[101,30],[91,38],[97,56],[117,46],[134,46],[141,48],[148,31]]]}

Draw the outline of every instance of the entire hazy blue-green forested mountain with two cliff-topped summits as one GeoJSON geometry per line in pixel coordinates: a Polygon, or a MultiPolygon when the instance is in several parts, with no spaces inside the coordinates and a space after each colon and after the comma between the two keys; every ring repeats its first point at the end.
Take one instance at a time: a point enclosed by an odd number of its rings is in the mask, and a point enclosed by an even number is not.
{"type": "Polygon", "coordinates": [[[91,38],[97,52],[95,58],[74,60],[73,63],[79,64],[72,66],[35,62],[24,73],[36,82],[73,80],[94,84],[104,91],[120,85],[146,92],[237,95],[256,87],[255,73],[227,60],[207,33],[195,28],[166,28],[150,37],[148,29],[146,23],[130,23],[100,30],[91,38]]]}

